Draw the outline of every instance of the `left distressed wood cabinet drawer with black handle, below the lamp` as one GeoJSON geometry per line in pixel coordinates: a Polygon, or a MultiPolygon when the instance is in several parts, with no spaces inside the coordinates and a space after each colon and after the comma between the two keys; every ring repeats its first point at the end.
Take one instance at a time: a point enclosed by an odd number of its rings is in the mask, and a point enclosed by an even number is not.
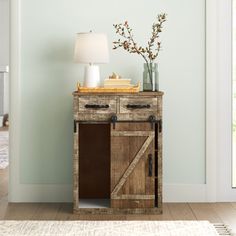
{"type": "Polygon", "coordinates": [[[79,113],[116,113],[116,99],[106,96],[79,97],[79,113]]]}

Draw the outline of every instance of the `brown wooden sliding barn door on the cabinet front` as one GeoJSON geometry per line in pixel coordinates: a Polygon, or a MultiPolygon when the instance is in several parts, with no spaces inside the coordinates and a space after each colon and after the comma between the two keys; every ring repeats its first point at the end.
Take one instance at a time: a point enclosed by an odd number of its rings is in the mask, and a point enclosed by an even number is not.
{"type": "MultiPolygon", "coordinates": [[[[152,131],[151,125],[148,123],[119,123],[115,129],[111,129],[111,135],[111,145],[115,145],[114,148],[112,148],[113,151],[111,162],[112,166],[116,166],[119,171],[119,181],[122,181],[125,171],[130,168],[130,165],[132,166],[132,163],[137,161],[137,155],[140,154],[140,150],[142,150],[143,146],[147,144],[143,154],[141,155],[141,158],[133,166],[132,172],[126,176],[123,186],[120,187],[120,189],[117,191],[117,194],[111,194],[111,206],[118,208],[129,208],[128,204],[131,204],[130,207],[133,208],[135,201],[129,200],[139,201],[152,199],[153,201],[141,201],[139,207],[145,207],[145,204],[147,204],[146,207],[154,207],[154,177],[149,177],[147,171],[148,155],[150,153],[154,153],[154,141],[151,140],[150,143],[146,143],[147,137],[154,137],[154,131],[152,131]],[[113,133],[115,134],[114,136],[113,133]],[[127,139],[127,137],[129,138],[127,139]],[[125,153],[122,152],[122,147],[124,146],[129,146],[129,149],[126,150],[125,153]],[[120,163],[120,159],[122,159],[123,156],[126,156],[125,168],[122,166],[123,162],[120,163]],[[127,167],[128,165],[129,167],[127,167]],[[121,170],[123,171],[122,176],[120,176],[121,170]]],[[[113,168],[112,171],[116,171],[117,169],[113,168]]],[[[116,175],[113,173],[112,176],[116,175]]],[[[116,181],[117,179],[118,178],[116,178],[116,181]]],[[[117,181],[116,186],[119,185],[119,181],[117,181]]],[[[114,184],[112,187],[114,187],[114,184]]]]}

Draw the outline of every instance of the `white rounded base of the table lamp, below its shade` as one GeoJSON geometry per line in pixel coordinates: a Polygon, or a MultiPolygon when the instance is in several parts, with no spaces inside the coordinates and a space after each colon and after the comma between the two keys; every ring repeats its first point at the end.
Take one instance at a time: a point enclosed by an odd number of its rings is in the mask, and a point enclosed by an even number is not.
{"type": "Polygon", "coordinates": [[[84,87],[95,88],[100,85],[99,66],[87,65],[84,70],[84,87]]]}

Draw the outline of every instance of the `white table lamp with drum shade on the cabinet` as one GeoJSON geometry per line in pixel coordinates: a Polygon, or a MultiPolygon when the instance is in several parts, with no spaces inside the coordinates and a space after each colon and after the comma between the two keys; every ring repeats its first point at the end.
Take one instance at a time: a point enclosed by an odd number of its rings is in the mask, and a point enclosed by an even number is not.
{"type": "Polygon", "coordinates": [[[99,66],[108,63],[109,52],[107,37],[98,33],[78,33],[75,42],[75,61],[87,64],[84,71],[84,87],[94,88],[100,85],[99,66]]]}

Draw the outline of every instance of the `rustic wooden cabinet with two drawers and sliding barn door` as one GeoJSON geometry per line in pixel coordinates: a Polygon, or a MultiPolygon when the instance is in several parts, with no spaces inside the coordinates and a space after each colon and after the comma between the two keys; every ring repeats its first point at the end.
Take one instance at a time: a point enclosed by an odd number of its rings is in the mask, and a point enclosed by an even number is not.
{"type": "Polygon", "coordinates": [[[74,212],[162,212],[162,92],[74,92],[74,212]]]}

